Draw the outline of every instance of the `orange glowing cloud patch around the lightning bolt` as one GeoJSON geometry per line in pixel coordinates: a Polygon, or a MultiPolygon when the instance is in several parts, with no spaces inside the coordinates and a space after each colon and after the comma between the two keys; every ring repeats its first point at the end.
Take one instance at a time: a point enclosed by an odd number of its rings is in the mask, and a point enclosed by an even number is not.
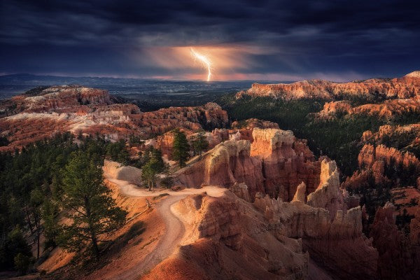
{"type": "Polygon", "coordinates": [[[231,80],[246,76],[249,69],[260,65],[255,56],[270,52],[252,45],[188,45],[138,48],[127,55],[144,67],[165,69],[162,75],[169,79],[203,80],[198,70],[205,69],[204,80],[231,80]]]}

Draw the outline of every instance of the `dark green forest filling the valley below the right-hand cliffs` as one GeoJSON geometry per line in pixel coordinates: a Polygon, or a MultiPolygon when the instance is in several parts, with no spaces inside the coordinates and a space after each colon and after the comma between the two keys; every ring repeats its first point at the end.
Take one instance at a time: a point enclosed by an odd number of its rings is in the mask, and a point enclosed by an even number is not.
{"type": "MultiPolygon", "coordinates": [[[[353,106],[367,103],[379,103],[384,99],[380,94],[375,97],[343,97],[349,99],[353,106]]],[[[408,111],[393,118],[380,118],[365,114],[346,115],[341,113],[337,118],[315,120],[311,113],[321,111],[325,100],[300,99],[285,101],[271,97],[242,97],[226,95],[220,102],[232,120],[241,121],[248,118],[259,118],[278,123],[282,130],[293,130],[296,137],[307,139],[309,148],[316,155],[328,155],[337,162],[344,176],[351,175],[357,168],[357,157],[360,152],[360,137],[366,130],[376,132],[381,125],[407,125],[420,121],[420,113],[408,111]]],[[[407,146],[414,134],[409,132],[384,137],[376,144],[405,149],[420,155],[419,146],[407,146]]],[[[374,143],[372,143],[374,144],[374,143]]]]}

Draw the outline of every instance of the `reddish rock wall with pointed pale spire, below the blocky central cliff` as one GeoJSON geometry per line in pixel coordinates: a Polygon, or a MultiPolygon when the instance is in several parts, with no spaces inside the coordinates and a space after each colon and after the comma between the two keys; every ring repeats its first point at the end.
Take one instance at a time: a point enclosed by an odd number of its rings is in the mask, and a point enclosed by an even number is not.
{"type": "MultiPolygon", "coordinates": [[[[330,194],[330,199],[339,202],[343,195],[337,189],[335,176],[334,172],[324,172],[321,182],[325,183],[314,193],[326,197],[330,194]]],[[[311,197],[314,193],[308,195],[308,202],[313,200],[311,197]]],[[[298,189],[295,196],[300,197],[301,190],[298,189]]],[[[273,232],[302,238],[304,248],[307,248],[311,258],[322,263],[338,278],[374,279],[378,253],[362,233],[360,207],[346,211],[344,203],[337,203],[335,208],[339,210],[334,215],[323,207],[311,207],[302,203],[302,199],[298,201],[281,202],[267,195],[257,195],[253,204],[264,213],[273,232]]],[[[321,202],[325,204],[324,200],[321,202]]]]}

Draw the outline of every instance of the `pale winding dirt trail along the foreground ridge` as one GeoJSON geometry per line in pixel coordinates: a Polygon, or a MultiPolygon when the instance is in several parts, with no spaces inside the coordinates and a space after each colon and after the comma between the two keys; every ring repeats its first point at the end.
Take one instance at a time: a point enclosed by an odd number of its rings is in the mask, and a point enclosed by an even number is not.
{"type": "Polygon", "coordinates": [[[113,276],[111,279],[118,280],[130,280],[130,279],[139,279],[143,274],[150,271],[158,265],[162,260],[165,260],[169,255],[171,255],[176,246],[179,245],[184,233],[186,232],[185,225],[181,222],[180,218],[176,216],[176,213],[172,211],[171,206],[179,200],[183,199],[187,195],[193,195],[198,193],[207,192],[208,195],[213,197],[220,197],[224,195],[224,188],[217,186],[206,186],[200,189],[184,189],[179,192],[174,192],[172,190],[158,190],[154,192],[149,192],[143,188],[139,188],[136,185],[133,185],[127,181],[111,179],[107,174],[106,178],[112,183],[116,183],[121,190],[121,193],[128,196],[141,196],[141,197],[150,197],[160,195],[162,193],[168,193],[168,197],[163,199],[158,204],[155,204],[155,208],[158,210],[160,216],[162,216],[163,221],[165,222],[165,233],[161,237],[158,245],[155,250],[146,255],[146,258],[139,262],[137,265],[132,267],[132,269],[124,270],[122,273],[117,276],[113,276]]]}

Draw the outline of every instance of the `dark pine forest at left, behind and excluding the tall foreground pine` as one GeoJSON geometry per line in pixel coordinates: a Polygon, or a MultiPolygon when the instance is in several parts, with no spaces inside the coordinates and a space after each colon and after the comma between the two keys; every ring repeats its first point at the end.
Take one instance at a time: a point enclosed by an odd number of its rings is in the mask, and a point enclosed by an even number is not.
{"type": "MultiPolygon", "coordinates": [[[[69,133],[37,141],[22,151],[0,153],[0,270],[24,272],[26,265],[30,267],[34,259],[29,245],[36,248],[34,258],[41,258],[46,248],[57,246],[58,237],[62,235],[59,216],[69,202],[64,197],[69,197],[69,188],[73,186],[66,179],[65,167],[79,153],[90,165],[86,170],[79,170],[82,173],[77,181],[83,179],[85,172],[102,178],[98,170],[104,158],[127,158],[128,155],[123,141],[111,144],[99,137],[81,137],[76,144],[69,133]],[[96,173],[92,172],[93,167],[96,173]],[[40,241],[40,235],[44,235],[45,243],[40,241]]],[[[99,193],[97,191],[94,200],[100,201],[106,196],[99,193]]],[[[103,214],[109,212],[103,211],[103,214]]]]}

